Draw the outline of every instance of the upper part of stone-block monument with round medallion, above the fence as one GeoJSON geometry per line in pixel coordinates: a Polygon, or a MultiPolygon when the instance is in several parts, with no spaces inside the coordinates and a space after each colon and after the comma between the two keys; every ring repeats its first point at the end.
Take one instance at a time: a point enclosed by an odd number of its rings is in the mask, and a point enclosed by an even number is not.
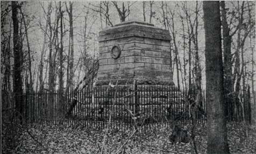
{"type": "Polygon", "coordinates": [[[99,32],[96,86],[116,84],[174,85],[170,72],[168,30],[130,20],[99,32]]]}

